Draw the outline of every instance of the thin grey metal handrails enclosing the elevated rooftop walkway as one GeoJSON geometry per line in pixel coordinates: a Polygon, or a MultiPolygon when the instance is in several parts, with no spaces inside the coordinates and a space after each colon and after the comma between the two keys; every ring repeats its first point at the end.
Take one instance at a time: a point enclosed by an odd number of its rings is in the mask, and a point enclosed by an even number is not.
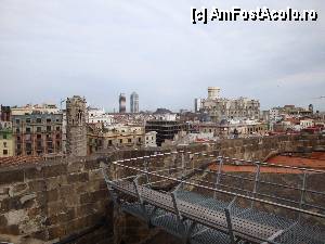
{"type": "MultiPolygon", "coordinates": [[[[100,160],[103,160],[103,159],[105,160],[105,158],[102,158],[100,160]]],[[[211,192],[213,192],[214,197],[216,197],[216,194],[221,193],[221,194],[225,194],[225,195],[230,195],[230,196],[237,196],[237,197],[240,197],[244,200],[248,200],[248,201],[251,201],[252,203],[259,202],[259,203],[272,205],[275,207],[285,208],[288,210],[294,210],[294,211],[297,211],[300,214],[307,214],[310,216],[325,218],[325,206],[324,206],[325,201],[321,204],[311,204],[311,203],[306,203],[306,200],[304,200],[304,196],[307,193],[325,196],[325,192],[323,192],[323,191],[316,191],[316,190],[307,188],[308,176],[311,176],[313,174],[316,174],[316,175],[324,174],[324,177],[325,177],[325,170],[313,169],[313,168],[302,168],[302,167],[288,166],[288,165],[277,165],[277,164],[264,163],[264,162],[245,160],[245,159],[223,157],[223,156],[216,156],[216,155],[211,154],[211,152],[192,153],[192,152],[185,152],[185,151],[173,151],[173,152],[166,152],[166,153],[157,152],[155,154],[147,155],[147,156],[140,156],[140,157],[132,157],[132,158],[115,160],[115,162],[112,162],[110,164],[114,166],[125,168],[125,169],[135,172],[135,175],[133,175],[133,178],[135,178],[139,174],[144,174],[148,177],[156,177],[156,178],[160,179],[157,182],[152,182],[151,184],[160,183],[160,182],[165,182],[165,181],[173,181],[173,182],[182,183],[184,185],[190,185],[190,187],[194,187],[197,189],[205,189],[205,190],[211,191],[211,192]],[[182,162],[181,164],[183,164],[183,165],[178,166],[178,167],[172,167],[172,168],[165,168],[165,169],[160,169],[160,170],[150,170],[150,166],[152,166],[152,167],[160,166],[161,167],[161,165],[153,166],[151,164],[151,160],[155,160],[155,158],[159,158],[162,156],[172,156],[172,155],[180,155],[180,158],[182,162]],[[187,155],[187,162],[184,160],[185,155],[187,155]],[[192,165],[193,167],[191,167],[191,164],[195,159],[195,157],[208,157],[211,160],[211,165],[218,163],[217,172],[214,172],[212,170],[200,169],[198,167],[194,167],[193,165],[192,165]],[[134,167],[134,166],[128,165],[128,163],[132,163],[132,162],[136,162],[136,160],[146,160],[146,164],[148,165],[148,167],[145,169],[142,166],[134,167]],[[238,163],[239,163],[239,165],[238,165],[238,163]],[[231,174],[224,172],[224,171],[222,171],[222,168],[225,165],[255,166],[256,170],[253,172],[253,178],[236,176],[236,175],[231,175],[231,174]],[[261,180],[261,177],[260,177],[262,174],[261,168],[263,168],[263,167],[287,168],[287,169],[295,169],[295,170],[300,171],[301,174],[296,174],[296,175],[302,175],[301,187],[299,187],[299,184],[298,185],[288,185],[288,184],[261,180]],[[161,174],[161,172],[167,172],[172,169],[181,170],[181,172],[178,171],[179,175],[181,175],[181,176],[172,177],[172,176],[166,176],[166,175],[161,174]],[[184,177],[183,175],[185,174],[185,171],[188,171],[188,170],[195,170],[195,171],[198,171],[202,174],[203,172],[210,174],[210,175],[214,174],[216,181],[211,182],[211,181],[195,180],[195,179],[182,180],[182,177],[184,177]],[[223,184],[223,183],[221,183],[221,179],[223,179],[224,177],[230,177],[230,178],[234,178],[234,179],[252,182],[253,188],[250,190],[247,190],[244,188],[236,188],[231,184],[223,184]],[[213,187],[207,187],[207,185],[204,185],[203,183],[207,183],[207,184],[210,184],[213,187]],[[261,184],[299,191],[300,200],[294,201],[294,200],[286,198],[286,197],[280,197],[280,196],[272,195],[272,194],[261,193],[261,192],[259,192],[259,187],[261,184]],[[225,189],[229,189],[229,190],[225,190],[225,189]],[[232,190],[236,190],[239,192],[242,191],[243,193],[236,193],[236,192],[233,192],[232,190]],[[265,198],[270,198],[273,201],[265,200],[265,198]],[[285,203],[277,203],[278,201],[282,201],[285,203]],[[312,208],[312,210],[304,209],[303,207],[310,207],[310,208],[312,208]],[[317,211],[315,210],[315,208],[317,209],[317,211]]],[[[164,167],[164,165],[162,165],[162,167],[164,167]]],[[[129,176],[129,177],[132,178],[132,176],[129,176]]]]}

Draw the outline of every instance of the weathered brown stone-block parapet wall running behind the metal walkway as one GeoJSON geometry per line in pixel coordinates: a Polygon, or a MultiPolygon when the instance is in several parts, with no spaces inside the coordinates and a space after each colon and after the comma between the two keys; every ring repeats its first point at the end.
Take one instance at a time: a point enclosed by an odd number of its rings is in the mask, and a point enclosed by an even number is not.
{"type": "MultiPolygon", "coordinates": [[[[182,149],[192,152],[209,150],[214,151],[214,155],[262,160],[272,152],[298,152],[317,146],[325,146],[324,137],[283,136],[223,140],[213,145],[182,149]]],[[[114,207],[96,159],[105,156],[109,162],[152,153],[150,150],[115,151],[89,157],[0,168],[0,241],[4,240],[4,235],[15,235],[25,236],[21,243],[28,243],[28,239],[53,243],[102,223],[93,235],[96,239],[103,236],[105,240],[102,243],[113,243],[114,207]]],[[[156,164],[161,167],[172,162],[161,158],[156,164]]],[[[128,222],[130,223],[127,224],[134,222],[136,228],[141,227],[135,220],[128,222]]],[[[127,233],[127,240],[131,240],[132,233],[136,233],[134,228],[130,230],[132,231],[127,233]]],[[[91,236],[84,235],[80,239],[82,242],[79,240],[74,243],[93,243],[94,239],[91,236]]]]}

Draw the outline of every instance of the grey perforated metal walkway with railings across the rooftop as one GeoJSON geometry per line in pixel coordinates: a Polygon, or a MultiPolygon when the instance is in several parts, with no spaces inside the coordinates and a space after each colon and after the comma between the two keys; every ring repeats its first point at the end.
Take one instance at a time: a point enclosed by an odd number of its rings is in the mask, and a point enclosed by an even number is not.
{"type": "Polygon", "coordinates": [[[325,231],[322,228],[325,221],[325,202],[323,202],[325,192],[307,188],[308,176],[324,177],[324,171],[218,157],[219,167],[216,174],[198,169],[191,164],[195,156],[196,158],[210,157],[208,158],[210,160],[214,158],[214,162],[217,158],[205,153],[173,152],[112,163],[107,163],[107,158],[100,160],[104,163],[101,166],[115,204],[119,205],[123,211],[143,219],[148,226],[162,228],[180,237],[183,243],[325,243],[325,231]],[[176,163],[173,167],[166,168],[159,165],[155,167],[155,170],[150,170],[150,164],[153,164],[157,157],[166,156],[170,157],[167,160],[176,163]],[[251,164],[257,167],[257,170],[252,178],[230,175],[222,171],[222,166],[225,164],[251,164]],[[300,170],[301,184],[292,187],[265,181],[261,177],[261,167],[286,167],[300,170]],[[199,174],[212,174],[214,181],[184,180],[186,172],[193,172],[193,170],[199,174]],[[126,176],[125,172],[129,175],[126,176]],[[239,180],[243,183],[242,188],[223,183],[222,180],[225,177],[239,180]],[[246,181],[251,183],[251,191],[245,189],[245,185],[248,185],[244,183],[246,181]],[[172,192],[152,189],[153,185],[165,182],[179,184],[172,192]],[[288,189],[292,192],[298,191],[299,201],[261,193],[259,191],[261,184],[288,189]],[[188,191],[188,188],[192,190],[188,191]],[[309,194],[317,195],[321,204],[308,203],[309,194]],[[230,200],[226,201],[226,198],[230,200]],[[256,205],[268,207],[261,209],[256,205]],[[275,213],[265,210],[271,208],[275,213]],[[277,214],[282,211],[290,213],[290,217],[277,214]],[[322,223],[318,224],[321,227],[316,227],[315,222],[322,223]]]}

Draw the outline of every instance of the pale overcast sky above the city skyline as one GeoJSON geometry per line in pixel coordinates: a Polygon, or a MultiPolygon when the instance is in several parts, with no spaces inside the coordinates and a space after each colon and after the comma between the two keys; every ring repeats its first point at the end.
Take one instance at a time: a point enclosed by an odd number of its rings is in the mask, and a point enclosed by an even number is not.
{"type": "Polygon", "coordinates": [[[107,111],[139,93],[141,110],[192,108],[207,87],[262,108],[325,111],[324,0],[0,0],[0,103],[74,94],[107,111]],[[193,25],[191,7],[313,9],[316,22],[193,25]]]}

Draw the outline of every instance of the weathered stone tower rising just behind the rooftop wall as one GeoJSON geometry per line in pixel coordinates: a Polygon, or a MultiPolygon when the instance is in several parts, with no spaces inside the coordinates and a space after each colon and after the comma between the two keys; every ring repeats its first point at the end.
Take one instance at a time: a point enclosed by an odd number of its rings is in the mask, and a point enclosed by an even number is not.
{"type": "Polygon", "coordinates": [[[86,99],[74,95],[66,100],[66,152],[87,155],[86,99]]]}

